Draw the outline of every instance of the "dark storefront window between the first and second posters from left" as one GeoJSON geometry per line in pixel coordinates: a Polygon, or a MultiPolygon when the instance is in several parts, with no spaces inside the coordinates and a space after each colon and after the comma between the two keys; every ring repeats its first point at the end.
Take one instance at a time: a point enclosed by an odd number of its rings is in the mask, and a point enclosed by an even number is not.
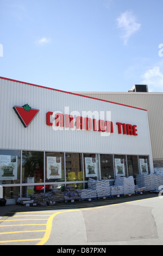
{"type": "Polygon", "coordinates": [[[43,152],[23,151],[22,183],[43,182],[43,152]]]}

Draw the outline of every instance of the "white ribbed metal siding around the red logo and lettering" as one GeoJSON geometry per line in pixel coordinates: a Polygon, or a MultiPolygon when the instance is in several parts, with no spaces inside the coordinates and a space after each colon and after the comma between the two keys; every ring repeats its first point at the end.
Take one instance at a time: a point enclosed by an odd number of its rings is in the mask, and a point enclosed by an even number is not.
{"type": "MultiPolygon", "coordinates": [[[[0,79],[0,100],[1,149],[135,154],[150,155],[152,159],[146,111],[3,79],[0,79]],[[13,107],[26,103],[40,112],[29,127],[24,128],[13,107]],[[64,113],[65,107],[81,115],[82,111],[111,111],[114,133],[102,137],[101,132],[96,131],[54,131],[46,125],[46,113],[64,113]],[[138,136],[118,135],[116,122],[137,125],[138,136]]],[[[130,105],[133,104],[130,102],[130,105]]]]}

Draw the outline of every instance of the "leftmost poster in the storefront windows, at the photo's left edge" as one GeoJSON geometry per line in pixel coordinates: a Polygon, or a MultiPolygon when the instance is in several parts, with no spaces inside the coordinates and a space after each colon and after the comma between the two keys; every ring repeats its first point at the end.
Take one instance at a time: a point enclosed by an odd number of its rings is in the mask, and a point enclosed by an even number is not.
{"type": "Polygon", "coordinates": [[[17,156],[0,155],[0,180],[17,180],[17,156]]]}

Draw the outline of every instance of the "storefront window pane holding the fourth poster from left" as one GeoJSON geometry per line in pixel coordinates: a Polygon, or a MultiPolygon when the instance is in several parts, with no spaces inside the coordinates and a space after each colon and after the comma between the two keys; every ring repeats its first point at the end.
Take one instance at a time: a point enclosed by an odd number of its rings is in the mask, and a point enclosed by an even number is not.
{"type": "Polygon", "coordinates": [[[115,175],[127,176],[126,156],[114,155],[115,175]]]}

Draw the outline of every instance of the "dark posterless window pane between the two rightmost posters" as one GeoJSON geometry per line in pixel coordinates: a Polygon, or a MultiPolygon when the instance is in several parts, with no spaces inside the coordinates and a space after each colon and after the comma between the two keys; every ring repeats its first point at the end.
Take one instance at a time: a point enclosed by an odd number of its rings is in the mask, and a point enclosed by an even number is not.
{"type": "Polygon", "coordinates": [[[137,162],[137,156],[127,156],[128,175],[136,178],[139,174],[139,165],[137,162]]]}

